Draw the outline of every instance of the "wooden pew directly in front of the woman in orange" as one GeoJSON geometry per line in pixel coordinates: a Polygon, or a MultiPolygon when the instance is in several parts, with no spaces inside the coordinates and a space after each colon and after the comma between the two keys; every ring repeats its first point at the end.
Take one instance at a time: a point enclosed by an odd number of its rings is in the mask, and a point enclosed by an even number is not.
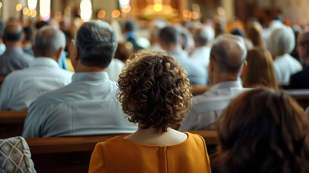
{"type": "MultiPolygon", "coordinates": [[[[218,144],[215,131],[191,131],[201,135],[207,145],[218,144]]],[[[97,142],[129,134],[26,138],[38,173],[87,173],[91,153],[97,142]]]]}

